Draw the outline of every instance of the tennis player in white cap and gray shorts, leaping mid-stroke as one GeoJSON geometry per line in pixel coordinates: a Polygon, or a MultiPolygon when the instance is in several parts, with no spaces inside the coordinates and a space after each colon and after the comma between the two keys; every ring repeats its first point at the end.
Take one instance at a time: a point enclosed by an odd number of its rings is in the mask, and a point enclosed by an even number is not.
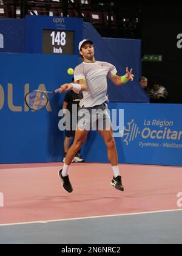
{"type": "Polygon", "coordinates": [[[67,151],[63,168],[59,171],[62,187],[69,193],[73,191],[72,184],[69,180],[69,166],[76,152],[79,151],[84,141],[86,141],[87,133],[90,127],[92,127],[92,119],[95,120],[96,118],[97,124],[100,120],[104,123],[103,129],[99,129],[97,125],[96,127],[106,143],[107,156],[112,166],[113,179],[110,183],[116,190],[124,191],[118,166],[118,154],[113,138],[112,124],[110,122],[110,116],[107,113],[107,105],[104,102],[108,101],[106,96],[107,76],[112,80],[113,84],[117,86],[124,85],[129,80],[133,80],[132,69],[129,72],[128,68],[126,68],[126,74],[124,76],[117,76],[115,66],[107,62],[98,62],[95,60],[94,46],[91,40],[84,39],[79,43],[78,48],[79,53],[83,57],[83,63],[76,66],[74,71],[74,79],[78,84],[64,84],[60,88],[60,92],[69,90],[83,91],[83,99],[79,103],[79,107],[81,108],[79,112],[82,115],[78,118],[75,139],[69,151],[67,151]],[[98,110],[102,110],[101,112],[104,114],[96,114],[98,110]],[[93,114],[94,112],[95,114],[93,114]],[[92,115],[89,115],[91,113],[92,115]]]}

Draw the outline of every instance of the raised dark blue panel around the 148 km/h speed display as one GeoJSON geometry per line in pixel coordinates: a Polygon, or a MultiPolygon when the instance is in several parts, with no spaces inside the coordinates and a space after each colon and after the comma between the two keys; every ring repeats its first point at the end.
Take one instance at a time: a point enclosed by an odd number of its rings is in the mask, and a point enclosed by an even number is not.
{"type": "Polygon", "coordinates": [[[79,54],[78,43],[82,40],[83,19],[58,16],[50,17],[27,15],[25,17],[25,31],[26,53],[46,53],[43,51],[43,48],[45,47],[46,49],[45,43],[48,41],[49,45],[47,45],[47,48],[55,48],[55,51],[60,51],[59,48],[62,50],[63,46],[64,48],[68,49],[71,47],[69,46],[69,43],[72,43],[72,54],[76,55],[79,54]],[[45,35],[45,30],[49,30],[47,36],[45,35]],[[61,33],[58,34],[60,31],[61,33]],[[70,32],[74,33],[70,35],[70,32]]]}

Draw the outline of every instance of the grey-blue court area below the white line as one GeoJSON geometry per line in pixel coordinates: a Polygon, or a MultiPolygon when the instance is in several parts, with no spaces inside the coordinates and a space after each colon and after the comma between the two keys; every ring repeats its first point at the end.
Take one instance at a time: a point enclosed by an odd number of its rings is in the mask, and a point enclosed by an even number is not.
{"type": "Polygon", "coordinates": [[[0,226],[0,243],[181,244],[182,210],[0,226]]]}

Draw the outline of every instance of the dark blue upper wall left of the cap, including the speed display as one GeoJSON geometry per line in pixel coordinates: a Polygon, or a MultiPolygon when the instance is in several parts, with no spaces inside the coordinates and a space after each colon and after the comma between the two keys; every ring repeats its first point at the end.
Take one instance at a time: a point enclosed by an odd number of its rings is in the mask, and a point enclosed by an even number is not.
{"type": "Polygon", "coordinates": [[[32,16],[0,20],[0,52],[79,54],[83,19],[32,16]]]}

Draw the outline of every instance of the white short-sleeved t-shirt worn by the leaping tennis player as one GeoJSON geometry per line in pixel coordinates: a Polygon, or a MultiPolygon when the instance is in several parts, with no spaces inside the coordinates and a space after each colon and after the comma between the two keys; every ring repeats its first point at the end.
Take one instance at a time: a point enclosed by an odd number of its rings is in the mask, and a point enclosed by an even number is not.
{"type": "Polygon", "coordinates": [[[76,66],[74,71],[75,81],[84,79],[87,91],[83,91],[83,99],[79,103],[81,107],[94,107],[101,105],[107,99],[107,76],[117,73],[115,66],[107,62],[83,62],[76,66]]]}

